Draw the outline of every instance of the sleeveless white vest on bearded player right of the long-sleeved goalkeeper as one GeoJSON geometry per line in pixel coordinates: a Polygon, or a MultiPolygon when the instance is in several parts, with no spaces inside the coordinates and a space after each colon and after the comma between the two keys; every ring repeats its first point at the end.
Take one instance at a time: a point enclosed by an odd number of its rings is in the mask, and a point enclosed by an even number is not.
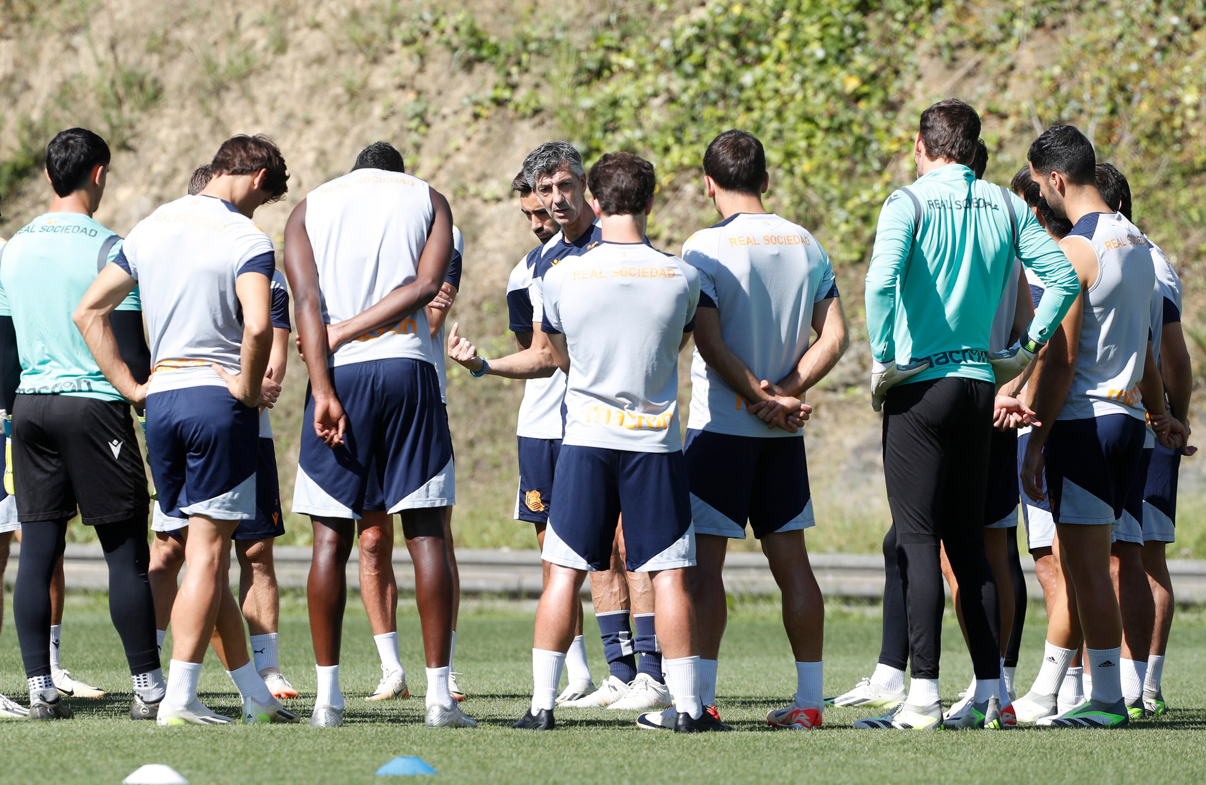
{"type": "Polygon", "coordinates": [[[1097,280],[1084,293],[1076,374],[1056,420],[1125,414],[1146,421],[1138,381],[1164,307],[1152,246],[1120,212],[1091,212],[1067,236],[1093,248],[1097,280]]]}

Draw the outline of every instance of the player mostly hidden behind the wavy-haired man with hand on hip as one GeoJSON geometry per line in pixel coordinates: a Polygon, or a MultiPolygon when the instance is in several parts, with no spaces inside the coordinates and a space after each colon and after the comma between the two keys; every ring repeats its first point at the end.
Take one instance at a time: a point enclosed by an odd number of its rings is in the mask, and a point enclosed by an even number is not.
{"type": "MultiPolygon", "coordinates": [[[[201,164],[193,172],[188,183],[188,194],[197,195],[205,189],[212,178],[209,164],[201,164]]],[[[288,362],[289,342],[289,294],[285,286],[285,276],[273,271],[273,348],[268,359],[267,380],[276,385],[285,381],[285,367],[288,362]]],[[[269,386],[274,389],[275,386],[269,386]]],[[[280,669],[277,656],[280,623],[280,590],[276,585],[276,568],[273,561],[273,540],[285,534],[285,522],[281,516],[281,491],[276,475],[276,451],[273,443],[273,426],[268,409],[274,400],[263,400],[259,412],[259,461],[256,464],[256,517],[240,521],[235,527],[233,540],[235,556],[239,560],[239,608],[247,620],[251,635],[251,654],[256,662],[256,672],[264,679],[269,692],[277,699],[295,698],[298,691],[288,683],[280,669]]],[[[151,528],[156,537],[151,544],[151,588],[156,596],[156,635],[159,649],[163,649],[168,625],[171,621],[171,605],[176,598],[176,584],[180,568],[185,563],[185,537],[188,532],[187,516],[169,516],[159,508],[158,502],[152,508],[151,528]]],[[[230,613],[234,608],[222,603],[218,613],[230,613]]],[[[229,623],[218,625],[218,629],[228,629],[241,620],[232,619],[229,623]]],[[[221,651],[221,649],[218,649],[221,651]]]]}

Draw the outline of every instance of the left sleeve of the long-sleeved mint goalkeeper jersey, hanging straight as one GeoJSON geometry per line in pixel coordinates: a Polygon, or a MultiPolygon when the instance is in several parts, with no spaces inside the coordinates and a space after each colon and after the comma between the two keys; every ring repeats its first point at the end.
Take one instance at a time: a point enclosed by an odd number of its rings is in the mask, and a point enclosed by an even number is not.
{"type": "Polygon", "coordinates": [[[871,355],[882,363],[896,359],[897,287],[913,253],[914,221],[911,200],[898,191],[888,197],[879,211],[867,268],[866,307],[871,355]]]}

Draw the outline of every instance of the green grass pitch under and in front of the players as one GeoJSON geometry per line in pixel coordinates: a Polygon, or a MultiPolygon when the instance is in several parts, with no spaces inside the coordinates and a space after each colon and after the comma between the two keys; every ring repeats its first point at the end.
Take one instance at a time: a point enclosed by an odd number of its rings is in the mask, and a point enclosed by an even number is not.
{"type": "MultiPolygon", "coordinates": [[[[309,716],[315,690],[312,652],[303,601],[286,598],[281,619],[281,666],[305,697],[293,708],[309,716]]],[[[11,621],[11,605],[6,609],[11,621]]],[[[948,614],[948,617],[950,614],[948,614]]],[[[586,640],[592,670],[604,669],[593,625],[586,640]]],[[[1041,655],[1044,620],[1031,613],[1018,669],[1029,686],[1041,655]]],[[[428,731],[422,726],[425,689],[418,619],[412,602],[399,608],[408,701],[365,703],[379,678],[376,651],[363,610],[353,598],[345,625],[343,685],[347,725],[218,728],[158,727],[125,719],[129,676],[104,597],[71,596],[63,631],[64,664],[111,690],[99,701],[71,702],[65,722],[0,722],[0,781],[119,783],[144,763],[168,763],[191,783],[388,781],[374,775],[398,755],[417,755],[444,781],[1009,781],[1009,783],[1201,783],[1206,780],[1206,620],[1182,613],[1165,667],[1164,692],[1172,710],[1128,731],[914,732],[854,731],[866,716],[830,709],[825,727],[772,732],[766,711],[785,704],[795,669],[777,608],[738,603],[730,616],[720,666],[720,710],[739,732],[680,737],[638,731],[633,713],[607,710],[557,715],[552,733],[513,731],[528,702],[531,605],[466,608],[457,635],[456,668],[464,673],[468,714],[476,731],[428,731]]],[[[878,609],[831,610],[826,625],[826,691],[849,689],[871,672],[879,650],[878,609]]],[[[971,676],[959,629],[943,635],[942,693],[955,698],[971,676]]],[[[0,637],[0,691],[25,702],[16,633],[0,637]]],[[[239,713],[233,685],[212,652],[201,697],[232,716],[239,713]]]]}

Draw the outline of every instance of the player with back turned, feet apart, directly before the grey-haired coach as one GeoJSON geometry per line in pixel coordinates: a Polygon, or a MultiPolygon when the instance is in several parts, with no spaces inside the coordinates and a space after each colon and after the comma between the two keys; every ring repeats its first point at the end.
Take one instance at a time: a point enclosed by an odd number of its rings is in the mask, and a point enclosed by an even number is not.
{"type": "Polygon", "coordinates": [[[599,244],[545,274],[541,332],[568,374],[566,430],[554,481],[558,502],[541,551],[550,569],[537,609],[532,705],[516,728],[555,726],[578,592],[586,572],[610,566],[619,523],[626,568],[652,579],[662,664],[678,709],[674,730],[728,730],[699,703],[685,570],[695,564],[695,533],[678,424],[678,353],[693,329],[699,279],[644,240],[656,182],[649,162],[603,156],[590,176],[599,244]]]}

